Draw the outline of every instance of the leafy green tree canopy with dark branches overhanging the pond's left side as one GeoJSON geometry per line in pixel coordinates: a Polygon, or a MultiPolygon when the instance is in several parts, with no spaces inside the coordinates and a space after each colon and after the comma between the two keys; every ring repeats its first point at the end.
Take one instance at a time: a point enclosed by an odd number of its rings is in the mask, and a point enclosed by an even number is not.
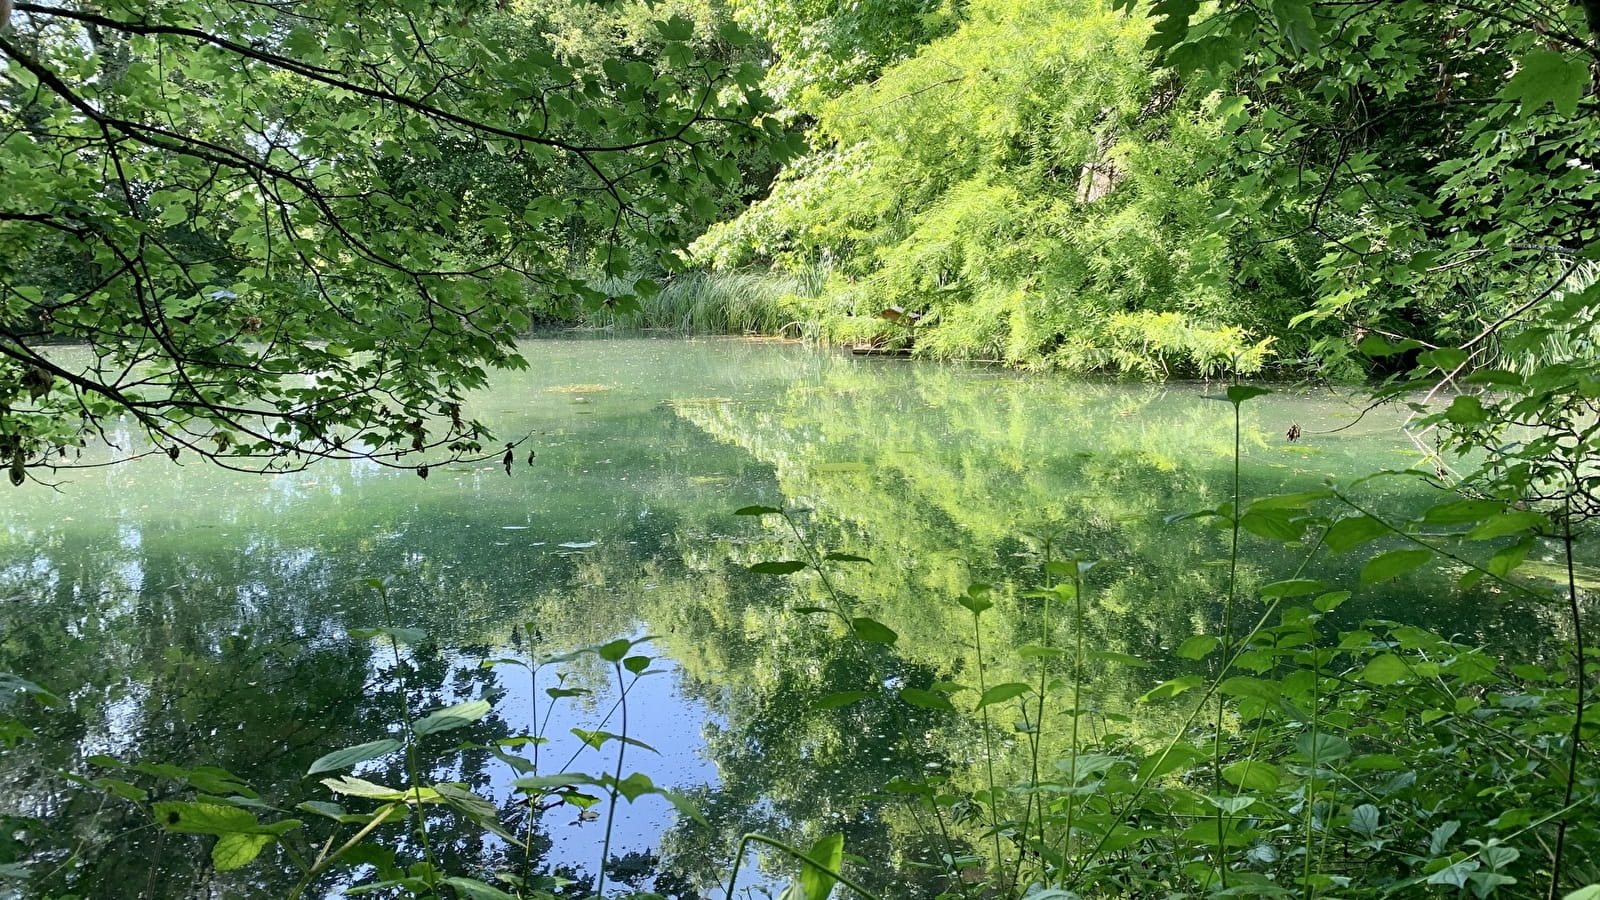
{"type": "Polygon", "coordinates": [[[589,287],[574,250],[605,274],[670,266],[741,154],[782,136],[730,22],[635,14],[613,32],[632,42],[586,58],[555,6],[16,3],[11,479],[123,440],[120,423],[246,469],[483,455],[462,397],[520,364],[531,317],[630,303],[589,287]]]}

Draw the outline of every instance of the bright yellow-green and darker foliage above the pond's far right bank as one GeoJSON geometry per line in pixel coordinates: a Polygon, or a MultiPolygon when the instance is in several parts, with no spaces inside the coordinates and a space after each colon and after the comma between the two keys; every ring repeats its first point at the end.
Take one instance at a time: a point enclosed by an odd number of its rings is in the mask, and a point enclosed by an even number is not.
{"type": "Polygon", "coordinates": [[[824,264],[797,315],[934,356],[1344,376],[1578,274],[1592,58],[1554,2],[971,3],[810,104],[814,151],[696,256],[824,264]]]}

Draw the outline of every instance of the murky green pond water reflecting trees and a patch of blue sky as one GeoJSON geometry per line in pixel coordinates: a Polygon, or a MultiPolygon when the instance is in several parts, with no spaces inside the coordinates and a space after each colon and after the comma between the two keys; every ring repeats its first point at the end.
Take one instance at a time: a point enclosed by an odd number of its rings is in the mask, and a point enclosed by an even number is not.
{"type": "MultiPolygon", "coordinates": [[[[445,751],[542,729],[552,743],[541,772],[610,770],[614,745],[584,751],[570,729],[619,730],[614,685],[592,658],[547,668],[538,684],[478,663],[650,637],[640,652],[659,671],[629,693],[629,735],[659,753],[630,749],[627,769],[690,794],[709,825],[680,823],[646,798],[621,807],[611,849],[638,854],[640,884],[658,876],[674,897],[720,897],[712,879],[746,831],[795,841],[845,831],[867,858],[918,857],[906,815],[864,796],[896,775],[970,780],[970,722],[880,698],[813,703],[970,676],[971,620],[954,597],[973,581],[1000,586],[986,642],[1019,644],[1037,612],[1019,589],[1040,581],[1043,556],[1099,559],[1085,623],[1093,645],[1155,661],[1101,673],[1090,701],[1104,711],[1126,709],[1168,677],[1166,650],[1216,628],[1226,535],[1165,522],[1230,495],[1232,407],[1203,399],[1214,388],[734,340],[552,340],[526,356],[531,368],[499,376],[472,410],[538,452],[510,476],[477,464],[422,480],[325,463],[272,477],[152,458],[6,493],[0,671],[66,700],[13,705],[37,737],[0,764],[0,812],[27,820],[11,855],[30,862],[29,895],[283,895],[294,879],[270,850],[251,868],[211,873],[208,838],[160,838],[133,802],[61,772],[128,778],[165,799],[189,794],[90,757],[208,764],[283,809],[330,799],[302,778],[310,761],[390,733],[398,717],[390,649],[349,636],[384,625],[363,585],[373,577],[392,578],[394,625],[430,636],[406,657],[413,708],[496,700],[491,717],[430,746],[443,759],[432,775],[493,796],[518,828],[526,812],[512,804],[512,770],[483,751],[445,751]],[[870,557],[830,577],[853,615],[891,626],[898,642],[850,641],[826,615],[797,612],[829,602],[814,575],[750,573],[752,562],[800,551],[779,520],[733,516],[747,504],[800,509],[814,546],[870,557]],[[544,689],[558,676],[592,693],[552,711],[544,689]]],[[[1334,394],[1286,391],[1245,410],[1246,493],[1421,458],[1394,410],[1357,420],[1334,394]],[[1298,442],[1285,437],[1291,424],[1304,431],[1298,442]]],[[[1382,485],[1366,492],[1381,506],[1430,498],[1418,482],[1382,485]]],[[[1301,564],[1254,538],[1248,549],[1246,583],[1301,564]]],[[[1317,570],[1355,585],[1354,562],[1317,570]]],[[[1536,612],[1458,597],[1427,577],[1358,593],[1341,613],[1448,623],[1474,641],[1546,631],[1536,612]]],[[[1018,663],[990,665],[1003,677],[1018,663]]],[[[1146,719],[1123,727],[1163,725],[1160,709],[1146,719]]],[[[362,772],[405,780],[398,759],[362,772]]],[[[578,822],[563,806],[536,833],[534,870],[592,876],[603,818],[578,822]]],[[[414,850],[405,836],[392,842],[414,850]]],[[[459,871],[530,865],[446,818],[434,850],[459,871]]],[[[878,887],[891,895],[933,892],[922,870],[882,868],[878,887]]],[[[782,870],[763,860],[747,884],[782,870]]]]}

